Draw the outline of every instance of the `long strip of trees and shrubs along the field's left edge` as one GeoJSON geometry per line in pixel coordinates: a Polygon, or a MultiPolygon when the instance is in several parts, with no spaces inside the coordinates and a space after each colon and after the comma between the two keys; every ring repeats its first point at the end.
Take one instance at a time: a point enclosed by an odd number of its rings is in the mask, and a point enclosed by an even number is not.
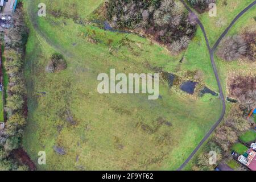
{"type": "Polygon", "coordinates": [[[24,126],[26,125],[26,86],[23,80],[23,51],[27,30],[24,26],[22,5],[13,17],[14,27],[5,32],[5,69],[9,76],[5,111],[7,121],[5,129],[0,131],[0,169],[28,169],[16,162],[10,152],[20,146],[24,126]]]}

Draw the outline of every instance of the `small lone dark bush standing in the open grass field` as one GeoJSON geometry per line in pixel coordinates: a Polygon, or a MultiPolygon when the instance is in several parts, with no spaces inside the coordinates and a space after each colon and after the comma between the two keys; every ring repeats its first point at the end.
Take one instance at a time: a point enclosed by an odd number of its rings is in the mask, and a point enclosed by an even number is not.
{"type": "Polygon", "coordinates": [[[52,55],[51,60],[47,65],[47,71],[50,73],[57,73],[67,68],[67,63],[63,56],[59,53],[52,55]]]}

